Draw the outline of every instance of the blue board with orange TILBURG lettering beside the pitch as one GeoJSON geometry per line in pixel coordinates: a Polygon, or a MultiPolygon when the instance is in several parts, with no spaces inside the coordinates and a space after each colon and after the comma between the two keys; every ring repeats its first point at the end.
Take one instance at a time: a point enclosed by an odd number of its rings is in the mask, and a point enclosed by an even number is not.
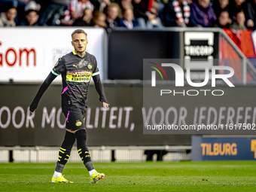
{"type": "Polygon", "coordinates": [[[192,136],[191,160],[256,160],[256,137],[192,136]]]}

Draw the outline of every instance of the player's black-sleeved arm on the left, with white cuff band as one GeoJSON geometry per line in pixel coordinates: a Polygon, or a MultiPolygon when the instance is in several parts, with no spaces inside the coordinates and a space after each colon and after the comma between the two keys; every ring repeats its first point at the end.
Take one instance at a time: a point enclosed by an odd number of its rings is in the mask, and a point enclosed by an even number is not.
{"type": "Polygon", "coordinates": [[[47,88],[50,86],[53,80],[64,71],[65,71],[65,59],[59,59],[58,62],[56,62],[56,65],[53,67],[53,70],[51,70],[50,74],[44,80],[44,83],[41,84],[41,87],[39,88],[38,93],[36,94],[34,100],[32,101],[29,107],[29,111],[31,114],[38,107],[38,102],[40,101],[41,96],[43,96],[44,92],[47,90],[47,88]]]}

